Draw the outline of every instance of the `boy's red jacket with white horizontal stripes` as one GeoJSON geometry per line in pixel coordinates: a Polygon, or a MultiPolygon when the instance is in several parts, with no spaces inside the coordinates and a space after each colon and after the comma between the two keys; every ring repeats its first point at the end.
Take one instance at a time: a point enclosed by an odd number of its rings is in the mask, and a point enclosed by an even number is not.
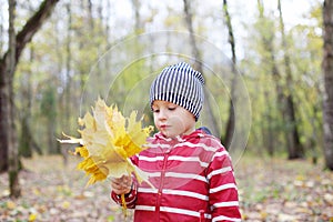
{"type": "Polygon", "coordinates": [[[135,182],[127,195],[134,221],[241,221],[231,159],[216,138],[196,130],[178,139],[157,133],[149,142],[132,157],[154,186],[135,182]]]}

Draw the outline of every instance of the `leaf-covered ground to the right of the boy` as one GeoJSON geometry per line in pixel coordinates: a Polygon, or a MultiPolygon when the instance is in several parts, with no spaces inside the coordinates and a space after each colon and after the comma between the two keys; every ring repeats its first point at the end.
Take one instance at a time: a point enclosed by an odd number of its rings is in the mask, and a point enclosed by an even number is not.
{"type": "Polygon", "coordinates": [[[244,221],[333,222],[333,172],[323,164],[244,157],[235,171],[244,221]]]}

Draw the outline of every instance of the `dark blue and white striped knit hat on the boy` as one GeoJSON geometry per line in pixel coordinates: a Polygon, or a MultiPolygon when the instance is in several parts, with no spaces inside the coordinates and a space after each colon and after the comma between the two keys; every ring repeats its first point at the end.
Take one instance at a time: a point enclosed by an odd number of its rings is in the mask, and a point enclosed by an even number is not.
{"type": "Polygon", "coordinates": [[[196,121],[204,99],[203,84],[202,74],[185,62],[167,67],[151,84],[150,105],[154,100],[172,102],[189,110],[196,121]]]}

